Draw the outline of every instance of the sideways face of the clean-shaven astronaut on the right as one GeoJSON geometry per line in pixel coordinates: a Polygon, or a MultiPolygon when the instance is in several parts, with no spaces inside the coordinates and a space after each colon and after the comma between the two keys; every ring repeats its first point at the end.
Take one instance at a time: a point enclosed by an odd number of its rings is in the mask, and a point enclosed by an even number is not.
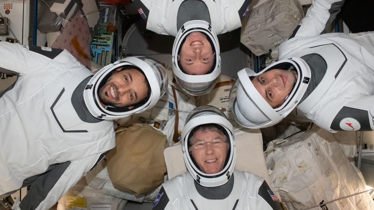
{"type": "Polygon", "coordinates": [[[272,69],[255,76],[252,84],[270,106],[277,108],[291,93],[296,80],[297,73],[293,70],[272,69]]]}

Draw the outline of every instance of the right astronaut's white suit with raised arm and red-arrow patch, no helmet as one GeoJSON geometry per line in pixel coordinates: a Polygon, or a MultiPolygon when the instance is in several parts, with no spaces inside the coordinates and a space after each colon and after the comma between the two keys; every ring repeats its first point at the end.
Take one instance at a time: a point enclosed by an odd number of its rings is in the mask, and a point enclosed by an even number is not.
{"type": "Polygon", "coordinates": [[[299,113],[331,132],[371,130],[374,129],[374,32],[319,35],[333,1],[336,0],[313,1],[295,37],[280,46],[279,60],[319,54],[327,64],[319,85],[298,104],[299,113]],[[326,10],[321,10],[324,7],[326,10]],[[356,111],[352,116],[344,113],[356,111]]]}

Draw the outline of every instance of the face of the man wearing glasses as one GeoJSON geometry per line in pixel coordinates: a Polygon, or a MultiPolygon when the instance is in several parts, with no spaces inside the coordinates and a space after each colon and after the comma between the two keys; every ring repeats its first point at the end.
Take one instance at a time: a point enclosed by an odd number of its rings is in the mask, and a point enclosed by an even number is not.
{"type": "MultiPolygon", "coordinates": [[[[199,129],[193,134],[190,140],[191,145],[208,141],[226,141],[226,136],[219,130],[205,131],[204,129],[199,129]]],[[[227,152],[229,151],[229,144],[225,143],[222,148],[214,148],[211,143],[208,143],[206,147],[201,150],[196,150],[191,146],[189,151],[201,172],[213,174],[218,173],[223,169],[227,152]]]]}

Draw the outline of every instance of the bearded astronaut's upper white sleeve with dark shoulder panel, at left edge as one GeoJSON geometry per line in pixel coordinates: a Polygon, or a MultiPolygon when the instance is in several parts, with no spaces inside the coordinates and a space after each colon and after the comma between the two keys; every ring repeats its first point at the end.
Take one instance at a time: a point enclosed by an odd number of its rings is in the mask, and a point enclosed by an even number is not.
{"type": "Polygon", "coordinates": [[[27,74],[41,69],[61,52],[61,49],[4,41],[0,43],[0,72],[8,75],[27,74]]]}

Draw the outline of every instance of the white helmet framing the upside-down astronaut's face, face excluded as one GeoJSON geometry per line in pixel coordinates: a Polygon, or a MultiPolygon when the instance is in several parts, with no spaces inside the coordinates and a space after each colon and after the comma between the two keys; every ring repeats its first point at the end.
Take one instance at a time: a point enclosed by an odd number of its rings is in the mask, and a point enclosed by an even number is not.
{"type": "Polygon", "coordinates": [[[188,21],[184,23],[175,37],[172,51],[173,73],[178,85],[188,94],[203,95],[211,91],[215,85],[218,75],[221,73],[220,45],[217,35],[212,26],[201,20],[188,21]],[[205,75],[189,75],[181,69],[178,63],[178,54],[181,47],[191,32],[202,32],[209,40],[212,50],[215,52],[215,60],[211,70],[205,75]]]}

